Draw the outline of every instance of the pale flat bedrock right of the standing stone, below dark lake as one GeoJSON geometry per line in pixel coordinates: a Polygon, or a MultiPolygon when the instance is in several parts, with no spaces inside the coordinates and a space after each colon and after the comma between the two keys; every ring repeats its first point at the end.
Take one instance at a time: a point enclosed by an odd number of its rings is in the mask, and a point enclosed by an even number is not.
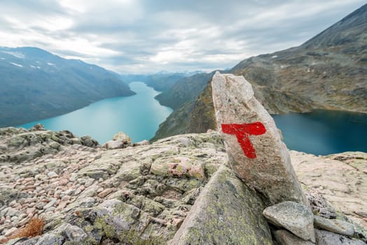
{"type": "Polygon", "coordinates": [[[317,157],[290,151],[290,155],[302,183],[317,190],[335,209],[367,229],[367,153],[317,157]]]}

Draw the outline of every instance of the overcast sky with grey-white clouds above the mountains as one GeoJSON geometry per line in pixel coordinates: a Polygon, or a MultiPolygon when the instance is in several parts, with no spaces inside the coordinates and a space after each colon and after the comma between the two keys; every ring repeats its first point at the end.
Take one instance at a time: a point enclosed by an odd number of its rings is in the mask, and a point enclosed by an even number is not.
{"type": "Polygon", "coordinates": [[[226,69],[300,45],[366,0],[1,0],[0,45],[119,73],[226,69]]]}

